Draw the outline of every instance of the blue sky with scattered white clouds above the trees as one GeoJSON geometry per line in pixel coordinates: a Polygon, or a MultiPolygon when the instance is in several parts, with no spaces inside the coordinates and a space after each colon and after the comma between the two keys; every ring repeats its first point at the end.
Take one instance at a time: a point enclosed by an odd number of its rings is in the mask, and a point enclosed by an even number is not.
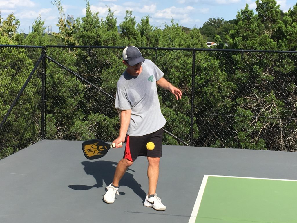
{"type": "MultiPolygon", "coordinates": [[[[59,32],[56,24],[59,11],[51,4],[53,0],[0,0],[1,18],[14,13],[20,21],[18,32],[29,33],[32,31],[34,20],[41,16],[45,20],[44,26],[52,26],[53,32],[59,32]]],[[[209,18],[235,19],[237,12],[249,5],[255,10],[253,0],[89,0],[91,10],[99,12],[99,17],[105,18],[108,14],[107,6],[114,12],[117,25],[124,21],[126,10],[132,10],[136,22],[149,16],[150,24],[163,29],[165,24],[170,25],[171,19],[180,26],[190,29],[200,28],[209,18]]],[[[65,15],[73,15],[74,19],[86,15],[85,0],[61,0],[65,15]]],[[[277,0],[280,9],[287,12],[293,8],[296,0],[277,0]]],[[[255,12],[256,13],[256,12],[255,12]]]]}

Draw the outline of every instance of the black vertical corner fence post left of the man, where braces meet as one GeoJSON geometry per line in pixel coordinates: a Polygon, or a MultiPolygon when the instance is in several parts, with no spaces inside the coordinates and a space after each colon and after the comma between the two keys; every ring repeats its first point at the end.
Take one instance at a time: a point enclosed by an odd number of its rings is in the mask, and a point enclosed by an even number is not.
{"type": "Polygon", "coordinates": [[[45,64],[46,47],[42,48],[42,77],[41,77],[41,139],[45,138],[45,103],[46,103],[46,64],[45,64]]]}

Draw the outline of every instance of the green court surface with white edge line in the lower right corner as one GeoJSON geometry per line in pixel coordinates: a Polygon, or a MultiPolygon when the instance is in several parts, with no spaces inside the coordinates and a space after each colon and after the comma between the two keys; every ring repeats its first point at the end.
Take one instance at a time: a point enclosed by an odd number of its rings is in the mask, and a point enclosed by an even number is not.
{"type": "Polygon", "coordinates": [[[296,223],[297,181],[205,175],[189,223],[296,223]]]}

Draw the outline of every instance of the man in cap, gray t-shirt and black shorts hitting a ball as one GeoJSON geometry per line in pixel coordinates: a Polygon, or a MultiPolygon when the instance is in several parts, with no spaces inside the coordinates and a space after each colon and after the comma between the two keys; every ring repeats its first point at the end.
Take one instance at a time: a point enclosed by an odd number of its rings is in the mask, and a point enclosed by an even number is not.
{"type": "Polygon", "coordinates": [[[115,195],[119,194],[119,181],[127,168],[138,156],[147,156],[149,191],[143,205],[158,211],[164,211],[156,194],[159,177],[159,162],[162,157],[162,128],[166,123],[160,109],[157,85],[169,90],[181,98],[181,90],[170,84],[164,73],[149,59],[144,59],[138,48],[127,46],[123,51],[123,63],[127,69],[119,78],[116,92],[115,108],[120,109],[119,137],[113,143],[117,146],[126,142],[123,158],[119,161],[113,182],[106,187],[103,199],[113,203],[115,195]],[[147,150],[146,144],[153,142],[153,150],[147,150]]]}

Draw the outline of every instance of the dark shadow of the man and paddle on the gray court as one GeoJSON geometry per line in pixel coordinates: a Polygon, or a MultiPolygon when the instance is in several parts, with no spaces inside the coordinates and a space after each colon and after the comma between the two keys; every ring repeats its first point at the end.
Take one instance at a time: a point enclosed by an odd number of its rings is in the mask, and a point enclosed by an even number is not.
{"type": "MultiPolygon", "coordinates": [[[[96,162],[83,161],[81,164],[83,164],[83,169],[85,170],[86,174],[93,175],[97,183],[93,186],[69,185],[68,187],[73,190],[89,190],[93,187],[103,187],[103,181],[106,185],[109,185],[113,181],[113,175],[116,171],[116,165],[118,163],[100,160],[96,162]]],[[[122,177],[119,186],[127,186],[131,188],[134,193],[137,194],[144,201],[146,198],[146,192],[141,189],[141,184],[139,184],[133,178],[133,174],[129,173],[129,171],[135,172],[134,170],[128,168],[128,170],[122,177]]],[[[125,194],[124,192],[119,193],[125,194]]]]}

